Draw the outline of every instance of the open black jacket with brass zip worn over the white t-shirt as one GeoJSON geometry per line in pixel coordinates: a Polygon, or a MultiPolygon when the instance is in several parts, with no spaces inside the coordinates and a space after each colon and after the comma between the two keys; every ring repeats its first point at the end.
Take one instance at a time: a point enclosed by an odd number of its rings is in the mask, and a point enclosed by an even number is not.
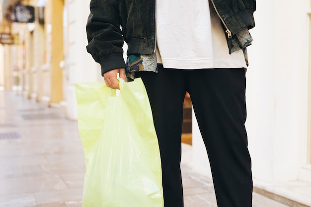
{"type": "MultiPolygon", "coordinates": [[[[232,38],[255,26],[256,0],[211,1],[223,22],[231,53],[232,38]]],[[[86,49],[101,65],[102,75],[112,69],[126,68],[122,50],[124,41],[128,44],[127,55],[155,52],[155,13],[156,0],[90,1],[86,49]]]]}

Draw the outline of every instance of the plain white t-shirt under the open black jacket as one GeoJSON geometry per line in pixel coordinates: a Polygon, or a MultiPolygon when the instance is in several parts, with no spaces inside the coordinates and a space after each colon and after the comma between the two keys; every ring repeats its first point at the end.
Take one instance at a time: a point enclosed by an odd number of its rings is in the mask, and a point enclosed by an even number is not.
{"type": "Polygon", "coordinates": [[[156,0],[156,44],[164,68],[246,68],[242,50],[229,55],[221,20],[208,0],[156,0]]]}

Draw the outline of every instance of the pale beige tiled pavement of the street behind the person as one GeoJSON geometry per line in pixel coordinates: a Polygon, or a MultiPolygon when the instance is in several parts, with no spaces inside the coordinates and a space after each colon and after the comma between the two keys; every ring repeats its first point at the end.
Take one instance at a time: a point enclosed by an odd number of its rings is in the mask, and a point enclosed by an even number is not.
{"type": "MultiPolygon", "coordinates": [[[[209,178],[181,163],[185,207],[217,207],[209,178]]],[[[84,156],[76,121],[0,91],[0,207],[81,207],[84,156]]],[[[289,207],[257,193],[253,207],[289,207]]]]}

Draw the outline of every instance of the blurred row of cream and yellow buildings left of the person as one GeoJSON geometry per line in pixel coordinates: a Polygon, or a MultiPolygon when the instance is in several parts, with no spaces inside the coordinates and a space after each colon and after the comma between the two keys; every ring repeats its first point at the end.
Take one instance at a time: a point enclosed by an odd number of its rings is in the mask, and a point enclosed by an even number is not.
{"type": "MultiPolygon", "coordinates": [[[[15,2],[7,0],[4,18],[12,12],[15,2]]],[[[5,89],[59,107],[75,120],[74,83],[102,80],[99,65],[85,49],[89,0],[22,0],[20,3],[34,6],[36,17],[33,23],[5,20],[9,25],[6,32],[14,37],[14,44],[3,45],[5,89]]]]}

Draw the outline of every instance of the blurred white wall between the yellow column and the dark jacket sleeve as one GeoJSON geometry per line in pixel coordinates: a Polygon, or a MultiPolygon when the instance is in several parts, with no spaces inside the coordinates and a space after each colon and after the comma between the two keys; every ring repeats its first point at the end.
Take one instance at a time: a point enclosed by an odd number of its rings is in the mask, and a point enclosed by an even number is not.
{"type": "Polygon", "coordinates": [[[102,81],[100,66],[86,52],[87,38],[85,25],[89,14],[90,0],[67,1],[65,7],[65,63],[64,91],[66,114],[77,119],[75,82],[102,81]]]}

